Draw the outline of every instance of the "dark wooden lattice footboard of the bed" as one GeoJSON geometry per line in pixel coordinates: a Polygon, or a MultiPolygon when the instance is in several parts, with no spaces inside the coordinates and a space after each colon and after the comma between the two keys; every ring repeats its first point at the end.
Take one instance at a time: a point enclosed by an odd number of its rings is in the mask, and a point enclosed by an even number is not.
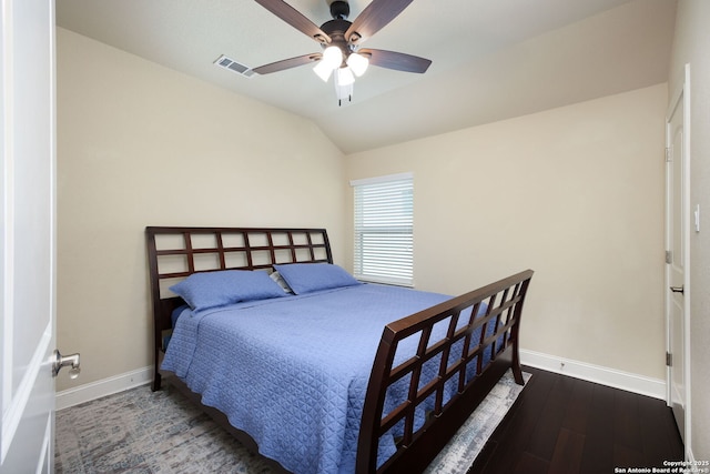
{"type": "Polygon", "coordinates": [[[518,332],[531,278],[527,270],[387,324],[363,409],[358,474],[422,472],[508,369],[524,384],[518,332]],[[446,336],[433,337],[442,324],[446,336]],[[415,337],[417,354],[394,365],[398,346],[408,337],[415,337]],[[423,375],[425,364],[438,366],[430,380],[423,375]],[[407,400],[386,413],[387,392],[402,381],[408,386],[407,400]],[[422,411],[427,412],[423,424],[416,422],[422,411]],[[378,462],[379,437],[390,430],[397,451],[378,462]]]}

